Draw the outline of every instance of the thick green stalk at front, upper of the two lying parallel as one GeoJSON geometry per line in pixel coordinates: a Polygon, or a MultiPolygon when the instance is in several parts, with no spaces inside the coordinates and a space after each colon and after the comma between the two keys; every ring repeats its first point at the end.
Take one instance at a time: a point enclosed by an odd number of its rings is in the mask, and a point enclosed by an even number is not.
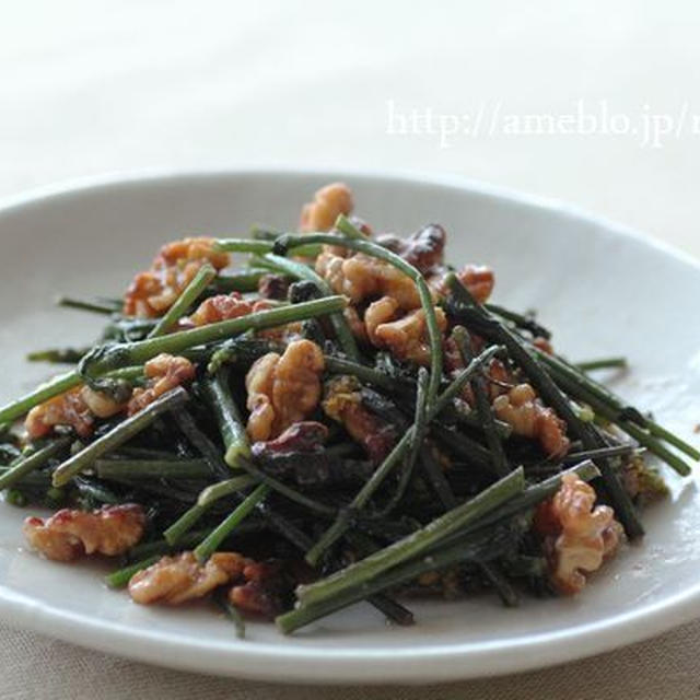
{"type": "Polygon", "coordinates": [[[324,598],[338,595],[348,588],[381,575],[397,564],[420,556],[452,533],[482,518],[510,499],[523,491],[525,478],[523,468],[518,467],[478,495],[447,511],[421,529],[407,537],[365,557],[354,564],[332,573],[312,584],[296,588],[296,597],[302,605],[317,603],[324,598]]]}

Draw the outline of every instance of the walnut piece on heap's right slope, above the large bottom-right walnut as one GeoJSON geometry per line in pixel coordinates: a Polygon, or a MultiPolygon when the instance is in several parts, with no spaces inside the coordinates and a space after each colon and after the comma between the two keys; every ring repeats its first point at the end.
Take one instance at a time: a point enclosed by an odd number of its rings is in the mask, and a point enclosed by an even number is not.
{"type": "Polygon", "coordinates": [[[524,438],[539,440],[550,457],[561,457],[569,450],[565,423],[551,408],[544,406],[529,384],[518,384],[493,401],[495,417],[524,438]]]}

